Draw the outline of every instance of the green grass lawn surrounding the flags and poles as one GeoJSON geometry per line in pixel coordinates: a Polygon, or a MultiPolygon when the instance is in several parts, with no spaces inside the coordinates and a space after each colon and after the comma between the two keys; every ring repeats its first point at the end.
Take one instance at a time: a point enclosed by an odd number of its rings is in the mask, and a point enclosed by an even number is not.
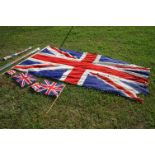
{"type": "MultiPolygon", "coordinates": [[[[52,43],[59,47],[68,30],[0,27],[0,57],[31,45],[45,47],[52,43]]],[[[150,67],[150,95],[140,95],[142,105],[67,84],[45,116],[53,98],[21,89],[10,78],[0,76],[0,128],[155,128],[155,27],[74,27],[63,47],[150,67]]],[[[0,66],[7,62],[0,62],[0,66]]]]}

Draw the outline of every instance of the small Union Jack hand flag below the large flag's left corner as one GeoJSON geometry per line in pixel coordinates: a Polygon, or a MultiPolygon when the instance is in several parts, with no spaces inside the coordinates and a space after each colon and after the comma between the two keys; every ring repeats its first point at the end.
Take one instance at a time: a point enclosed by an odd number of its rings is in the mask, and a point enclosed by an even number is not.
{"type": "Polygon", "coordinates": [[[19,75],[14,75],[13,79],[16,80],[17,83],[23,88],[25,86],[29,86],[36,81],[36,79],[29,73],[21,73],[19,75]]]}

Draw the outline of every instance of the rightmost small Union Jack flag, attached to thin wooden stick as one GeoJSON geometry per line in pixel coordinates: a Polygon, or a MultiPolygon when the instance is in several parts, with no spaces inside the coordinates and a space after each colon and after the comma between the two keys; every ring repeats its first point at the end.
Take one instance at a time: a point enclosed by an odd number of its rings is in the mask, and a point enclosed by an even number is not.
{"type": "Polygon", "coordinates": [[[64,84],[44,80],[44,82],[41,83],[41,93],[58,97],[64,86],[64,84]]]}

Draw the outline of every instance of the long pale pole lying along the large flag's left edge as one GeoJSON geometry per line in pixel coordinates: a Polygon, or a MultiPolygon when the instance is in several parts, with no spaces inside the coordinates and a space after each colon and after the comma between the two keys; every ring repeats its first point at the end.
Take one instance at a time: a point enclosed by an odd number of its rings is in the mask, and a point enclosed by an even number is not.
{"type": "MultiPolygon", "coordinates": [[[[12,62],[6,64],[6,65],[3,66],[2,68],[0,68],[0,72],[2,72],[3,70],[7,69],[8,67],[11,67],[12,65],[14,65],[14,64],[16,64],[17,62],[21,61],[22,59],[27,58],[28,56],[30,56],[30,55],[32,55],[32,54],[38,52],[39,50],[40,50],[40,48],[36,48],[36,49],[34,49],[33,51],[31,51],[30,53],[28,53],[28,54],[22,56],[21,58],[16,59],[16,60],[14,60],[14,61],[12,61],[12,62]]],[[[4,72],[4,73],[5,73],[5,72],[4,72]]],[[[1,74],[4,74],[4,73],[1,73],[1,74]]]]}

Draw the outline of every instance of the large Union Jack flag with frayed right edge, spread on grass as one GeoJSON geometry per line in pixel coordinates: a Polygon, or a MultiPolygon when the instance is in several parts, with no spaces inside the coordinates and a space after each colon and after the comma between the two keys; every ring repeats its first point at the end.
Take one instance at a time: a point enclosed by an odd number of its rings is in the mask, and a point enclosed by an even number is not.
{"type": "Polygon", "coordinates": [[[150,69],[110,57],[46,47],[14,69],[37,76],[116,93],[142,102],[148,93],[150,69]]]}

